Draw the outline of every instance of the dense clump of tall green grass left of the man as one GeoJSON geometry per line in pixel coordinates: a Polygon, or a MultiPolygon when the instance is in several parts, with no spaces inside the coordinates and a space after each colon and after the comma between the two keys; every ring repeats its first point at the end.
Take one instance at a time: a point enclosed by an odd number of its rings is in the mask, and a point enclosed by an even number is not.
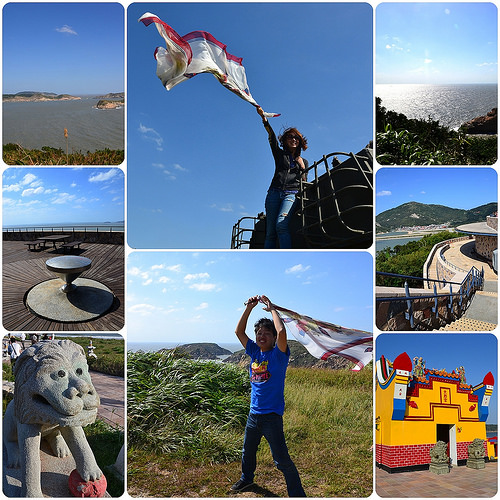
{"type": "Polygon", "coordinates": [[[248,374],[176,350],[128,353],[130,447],[206,462],[235,460],[249,406],[248,374]]]}

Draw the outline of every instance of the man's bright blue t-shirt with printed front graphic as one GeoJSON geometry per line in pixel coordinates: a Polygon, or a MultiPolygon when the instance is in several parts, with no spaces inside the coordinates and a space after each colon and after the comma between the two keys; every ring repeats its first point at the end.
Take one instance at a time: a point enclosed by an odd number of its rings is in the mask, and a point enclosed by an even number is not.
{"type": "Polygon", "coordinates": [[[252,394],[250,413],[259,415],[277,413],[283,415],[285,411],[285,375],[290,358],[290,349],[286,353],[277,346],[266,352],[248,339],[246,353],[250,356],[250,383],[252,394]]]}

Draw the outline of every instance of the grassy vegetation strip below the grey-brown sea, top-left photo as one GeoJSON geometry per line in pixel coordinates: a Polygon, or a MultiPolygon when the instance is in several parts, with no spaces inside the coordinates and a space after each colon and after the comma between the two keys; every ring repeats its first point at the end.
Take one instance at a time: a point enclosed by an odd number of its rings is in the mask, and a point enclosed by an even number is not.
{"type": "Polygon", "coordinates": [[[123,149],[103,149],[87,153],[66,154],[61,148],[49,146],[25,149],[19,144],[5,144],[3,161],[7,165],[120,165],[124,160],[123,149]]]}

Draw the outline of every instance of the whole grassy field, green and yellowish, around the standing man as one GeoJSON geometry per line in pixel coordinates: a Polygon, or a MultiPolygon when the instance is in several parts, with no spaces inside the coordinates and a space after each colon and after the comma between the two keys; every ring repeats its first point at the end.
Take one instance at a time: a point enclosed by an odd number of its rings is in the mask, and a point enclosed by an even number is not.
{"type": "MultiPolygon", "coordinates": [[[[248,372],[172,351],[128,353],[128,379],[129,494],[232,496],[229,488],[241,474],[248,372]],[[221,453],[222,445],[233,451],[221,453]]],[[[289,367],[285,399],[287,444],[308,496],[369,496],[371,364],[361,372],[289,367]]],[[[265,440],[257,461],[259,488],[251,495],[286,496],[265,440]]]]}

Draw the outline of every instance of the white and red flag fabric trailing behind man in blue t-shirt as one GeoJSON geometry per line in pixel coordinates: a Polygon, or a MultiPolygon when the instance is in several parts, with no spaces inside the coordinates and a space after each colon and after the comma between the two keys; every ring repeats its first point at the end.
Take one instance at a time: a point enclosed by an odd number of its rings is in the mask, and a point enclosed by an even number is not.
{"type": "Polygon", "coordinates": [[[373,334],[318,321],[289,309],[274,306],[285,327],[315,358],[326,360],[336,354],[361,370],[373,358],[373,334]]]}

